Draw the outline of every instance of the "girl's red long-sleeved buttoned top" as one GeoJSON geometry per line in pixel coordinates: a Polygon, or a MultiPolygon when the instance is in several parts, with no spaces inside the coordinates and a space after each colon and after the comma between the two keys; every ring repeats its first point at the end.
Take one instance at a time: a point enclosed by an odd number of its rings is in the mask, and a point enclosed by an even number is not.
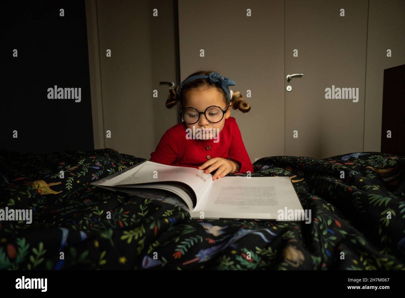
{"type": "MultiPolygon", "coordinates": [[[[187,139],[185,122],[168,129],[150,161],[180,167],[199,167],[214,157],[230,158],[239,165],[239,172],[253,172],[253,165],[243,144],[241,131],[234,117],[225,119],[219,141],[214,139],[187,139]]],[[[211,172],[212,174],[213,172],[211,172]]]]}

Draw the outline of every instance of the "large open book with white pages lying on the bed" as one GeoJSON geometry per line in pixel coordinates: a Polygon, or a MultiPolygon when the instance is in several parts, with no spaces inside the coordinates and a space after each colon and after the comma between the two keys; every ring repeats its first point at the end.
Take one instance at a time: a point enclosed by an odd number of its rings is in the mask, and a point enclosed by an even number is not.
{"type": "Polygon", "coordinates": [[[92,185],[136,194],[131,190],[160,189],[180,197],[191,218],[277,219],[279,210],[302,210],[288,177],[226,176],[194,167],[143,161],[93,182],[92,185]]]}

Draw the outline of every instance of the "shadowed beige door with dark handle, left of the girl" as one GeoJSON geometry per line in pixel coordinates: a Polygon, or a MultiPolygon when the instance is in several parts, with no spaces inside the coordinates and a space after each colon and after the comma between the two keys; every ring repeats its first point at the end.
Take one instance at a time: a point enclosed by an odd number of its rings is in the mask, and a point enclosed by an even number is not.
{"type": "Polygon", "coordinates": [[[177,122],[159,84],[177,82],[174,1],[88,0],[86,13],[95,148],[149,159],[177,122]]]}

